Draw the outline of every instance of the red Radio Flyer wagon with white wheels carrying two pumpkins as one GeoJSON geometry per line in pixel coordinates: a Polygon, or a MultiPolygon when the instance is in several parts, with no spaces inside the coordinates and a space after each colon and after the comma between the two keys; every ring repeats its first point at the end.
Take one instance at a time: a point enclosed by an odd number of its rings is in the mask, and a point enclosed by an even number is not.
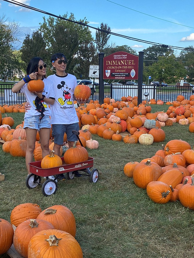
{"type": "Polygon", "coordinates": [[[41,168],[41,161],[31,162],[30,175],[26,178],[26,186],[29,189],[35,188],[37,185],[42,185],[42,193],[44,196],[54,194],[57,190],[57,178],[61,173],[67,173],[67,179],[73,179],[76,175],[85,175],[90,177],[91,183],[98,181],[98,169],[93,167],[94,158],[89,157],[87,161],[65,164],[64,158],[61,157],[63,165],[55,168],[41,168]],[[81,173],[80,173],[80,172],[81,173]],[[49,179],[49,176],[54,176],[55,179],[49,179]],[[41,183],[41,177],[46,177],[46,181],[41,183]]]}

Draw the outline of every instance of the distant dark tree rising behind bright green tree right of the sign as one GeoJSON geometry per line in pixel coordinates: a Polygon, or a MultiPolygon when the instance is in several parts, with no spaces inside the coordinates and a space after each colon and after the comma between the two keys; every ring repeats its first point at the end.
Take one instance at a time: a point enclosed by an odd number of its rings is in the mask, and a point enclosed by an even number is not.
{"type": "Polygon", "coordinates": [[[161,46],[151,46],[148,47],[147,49],[143,49],[144,51],[144,63],[146,66],[150,66],[154,61],[158,61],[159,56],[170,56],[174,53],[173,49],[169,49],[166,47],[161,47],[161,46]]]}

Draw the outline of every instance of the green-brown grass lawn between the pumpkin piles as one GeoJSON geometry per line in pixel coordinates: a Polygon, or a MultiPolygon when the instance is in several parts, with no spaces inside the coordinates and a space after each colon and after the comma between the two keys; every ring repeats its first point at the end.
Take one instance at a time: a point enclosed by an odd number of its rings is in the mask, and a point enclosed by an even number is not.
{"type": "MultiPolygon", "coordinates": [[[[167,108],[152,105],[152,112],[167,108]]],[[[13,128],[23,120],[23,114],[10,116],[15,119],[13,128]]],[[[94,135],[99,148],[88,152],[95,158],[98,182],[90,183],[84,176],[59,181],[56,194],[49,197],[43,196],[40,187],[30,190],[25,186],[25,159],[11,157],[0,148],[1,173],[5,174],[5,181],[0,182],[0,218],[10,221],[12,209],[20,203],[38,203],[42,210],[62,204],[75,216],[76,240],[85,258],[193,257],[193,211],[180,202],[153,203],[146,190],[123,173],[127,162],[152,157],[169,140],[182,139],[193,148],[188,126],[173,124],[163,129],[165,141],[151,146],[128,145],[94,135]]]]}

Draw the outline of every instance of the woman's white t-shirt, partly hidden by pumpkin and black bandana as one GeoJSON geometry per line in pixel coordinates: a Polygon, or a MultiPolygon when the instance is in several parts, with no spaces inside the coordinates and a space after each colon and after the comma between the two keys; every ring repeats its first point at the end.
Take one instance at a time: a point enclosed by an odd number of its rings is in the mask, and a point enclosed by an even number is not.
{"type": "MultiPolygon", "coordinates": [[[[42,94],[45,95],[46,98],[51,97],[54,99],[55,98],[54,87],[53,87],[52,82],[46,78],[43,79],[43,82],[45,84],[45,87],[44,87],[42,94]]],[[[36,106],[34,104],[34,101],[35,101],[37,95],[28,90],[27,84],[28,83],[25,83],[24,86],[20,90],[20,92],[25,95],[26,101],[29,102],[30,106],[31,106],[30,110],[28,110],[28,112],[25,112],[24,118],[29,117],[29,116],[39,116],[41,113],[36,110],[36,106]]],[[[48,104],[44,102],[44,99],[43,99],[42,103],[43,103],[43,106],[45,107],[44,115],[51,116],[51,110],[50,110],[48,104]]]]}

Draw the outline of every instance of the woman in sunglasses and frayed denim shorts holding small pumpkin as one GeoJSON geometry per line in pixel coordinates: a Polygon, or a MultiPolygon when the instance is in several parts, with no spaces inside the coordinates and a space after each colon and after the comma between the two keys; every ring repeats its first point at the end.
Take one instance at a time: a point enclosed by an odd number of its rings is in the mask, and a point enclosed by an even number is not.
{"type": "MultiPolygon", "coordinates": [[[[46,64],[40,57],[33,57],[27,67],[27,76],[21,81],[14,84],[12,92],[24,93],[26,101],[30,103],[31,109],[25,112],[23,128],[26,132],[27,150],[25,155],[26,167],[28,175],[30,174],[30,166],[28,163],[33,162],[33,153],[35,149],[36,134],[39,131],[42,156],[49,155],[49,139],[51,111],[48,105],[54,104],[54,89],[50,80],[46,79],[46,64]],[[28,90],[27,84],[34,79],[40,79],[44,82],[44,90],[42,92],[32,93],[28,90]],[[40,108],[41,107],[41,108],[40,108]]],[[[52,176],[52,179],[54,177],[52,176]]]]}

